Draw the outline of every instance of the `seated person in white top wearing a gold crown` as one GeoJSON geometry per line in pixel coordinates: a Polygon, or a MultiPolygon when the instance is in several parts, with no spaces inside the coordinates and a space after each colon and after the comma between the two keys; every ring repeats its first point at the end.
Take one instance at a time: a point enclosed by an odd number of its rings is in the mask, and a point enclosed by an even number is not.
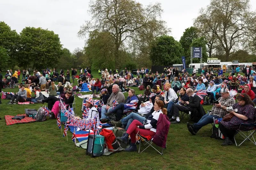
{"type": "Polygon", "coordinates": [[[172,105],[174,104],[174,102],[176,101],[176,99],[178,99],[177,94],[175,93],[175,91],[171,88],[171,85],[169,83],[166,83],[164,85],[164,104],[165,107],[167,107],[167,114],[170,113],[172,110],[172,105]]]}

